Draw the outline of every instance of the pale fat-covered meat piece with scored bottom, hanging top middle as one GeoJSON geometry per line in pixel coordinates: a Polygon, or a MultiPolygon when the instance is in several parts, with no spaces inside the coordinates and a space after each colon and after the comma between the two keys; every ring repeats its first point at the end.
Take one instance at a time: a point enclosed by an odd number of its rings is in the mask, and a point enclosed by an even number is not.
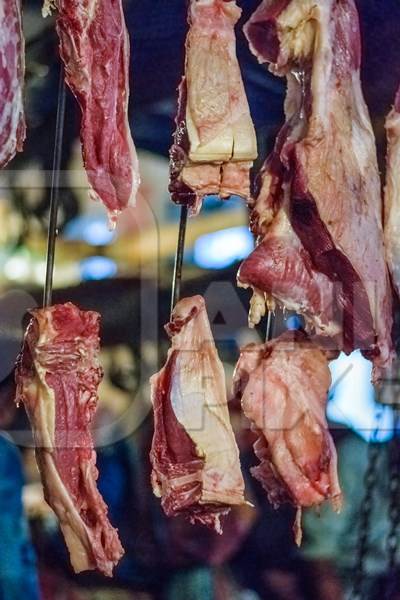
{"type": "Polygon", "coordinates": [[[208,194],[248,198],[257,142],[236,56],[234,0],[191,0],[169,190],[197,214],[208,194]]]}

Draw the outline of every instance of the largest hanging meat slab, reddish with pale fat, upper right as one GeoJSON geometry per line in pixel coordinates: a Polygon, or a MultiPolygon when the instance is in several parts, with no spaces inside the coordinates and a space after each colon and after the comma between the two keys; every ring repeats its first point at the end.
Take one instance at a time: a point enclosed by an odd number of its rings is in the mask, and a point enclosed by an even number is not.
{"type": "Polygon", "coordinates": [[[354,2],[264,0],[245,33],[287,78],[286,123],[252,205],[259,246],[238,277],[254,290],[250,318],[265,303],[296,310],[337,348],[360,348],[377,380],[392,358],[391,290],[354,2]]]}

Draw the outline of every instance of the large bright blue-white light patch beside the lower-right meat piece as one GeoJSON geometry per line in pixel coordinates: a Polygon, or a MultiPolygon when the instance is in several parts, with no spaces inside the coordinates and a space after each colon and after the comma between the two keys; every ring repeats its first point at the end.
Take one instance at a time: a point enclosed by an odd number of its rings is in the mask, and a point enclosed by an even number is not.
{"type": "Polygon", "coordinates": [[[330,363],[330,370],[332,387],[327,407],[328,418],[346,425],[366,441],[371,439],[379,424],[375,441],[386,442],[391,439],[393,413],[390,407],[381,407],[375,402],[371,362],[356,350],[349,356],[340,354],[330,363]]]}

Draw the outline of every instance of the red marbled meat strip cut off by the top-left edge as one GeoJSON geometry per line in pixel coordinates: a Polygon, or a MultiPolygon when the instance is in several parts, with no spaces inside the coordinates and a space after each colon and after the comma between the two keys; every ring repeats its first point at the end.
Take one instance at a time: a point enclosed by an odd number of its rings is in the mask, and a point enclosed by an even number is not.
{"type": "Polygon", "coordinates": [[[0,6],[0,168],[25,140],[23,87],[25,44],[22,33],[21,2],[7,0],[0,6]]]}

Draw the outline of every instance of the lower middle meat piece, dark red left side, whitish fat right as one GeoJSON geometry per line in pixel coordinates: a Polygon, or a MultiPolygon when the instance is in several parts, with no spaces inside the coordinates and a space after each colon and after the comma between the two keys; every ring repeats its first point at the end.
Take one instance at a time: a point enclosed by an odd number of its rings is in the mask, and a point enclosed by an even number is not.
{"type": "Polygon", "coordinates": [[[203,298],[180,300],[166,330],[167,362],[150,380],[153,491],[168,516],[221,533],[221,516],[244,503],[244,482],[203,298]]]}

